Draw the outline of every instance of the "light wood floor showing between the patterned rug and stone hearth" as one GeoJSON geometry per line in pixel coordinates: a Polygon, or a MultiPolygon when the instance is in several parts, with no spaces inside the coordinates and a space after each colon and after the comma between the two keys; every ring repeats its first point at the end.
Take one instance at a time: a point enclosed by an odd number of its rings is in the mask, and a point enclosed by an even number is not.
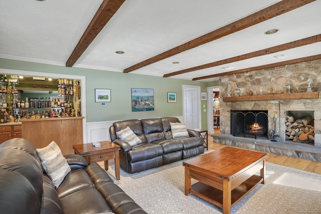
{"type": "MultiPolygon", "coordinates": [[[[219,133],[219,129],[214,129],[215,133],[219,133]]],[[[213,134],[213,133],[212,133],[213,134]]],[[[227,145],[223,145],[220,143],[213,143],[212,134],[209,134],[208,142],[209,149],[217,150],[223,148],[227,145]]],[[[269,163],[275,163],[282,166],[287,166],[295,169],[300,169],[308,172],[313,172],[317,174],[321,174],[321,162],[315,162],[311,160],[305,160],[295,157],[282,156],[278,154],[267,153],[266,161],[269,163]]]]}

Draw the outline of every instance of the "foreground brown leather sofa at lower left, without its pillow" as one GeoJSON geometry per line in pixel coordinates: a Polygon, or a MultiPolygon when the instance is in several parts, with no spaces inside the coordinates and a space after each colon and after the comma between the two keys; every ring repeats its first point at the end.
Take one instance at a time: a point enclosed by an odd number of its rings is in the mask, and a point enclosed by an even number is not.
{"type": "Polygon", "coordinates": [[[145,212],[96,162],[66,155],[71,172],[58,188],[43,172],[35,146],[23,138],[0,145],[1,213],[145,212]]]}

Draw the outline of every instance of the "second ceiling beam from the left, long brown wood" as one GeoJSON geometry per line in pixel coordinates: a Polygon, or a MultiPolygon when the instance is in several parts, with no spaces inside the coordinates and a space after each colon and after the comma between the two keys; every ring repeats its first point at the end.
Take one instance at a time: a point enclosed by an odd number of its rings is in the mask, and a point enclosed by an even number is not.
{"type": "Polygon", "coordinates": [[[258,11],[254,14],[251,14],[243,19],[240,19],[234,23],[226,25],[220,29],[212,31],[206,35],[203,35],[199,38],[191,40],[183,45],[177,46],[171,50],[158,54],[152,58],[144,60],[136,65],[133,65],[129,68],[126,68],[123,73],[129,73],[131,71],[137,70],[144,66],[150,65],[152,63],[164,60],[166,58],[172,57],[176,54],[182,53],[184,51],[196,48],[200,45],[212,42],[229,34],[241,31],[253,25],[259,24],[266,20],[272,19],[276,16],[282,15],[299,7],[302,7],[306,4],[314,2],[315,0],[283,0],[279,3],[276,3],[270,7],[267,7],[261,11],[258,11]]]}

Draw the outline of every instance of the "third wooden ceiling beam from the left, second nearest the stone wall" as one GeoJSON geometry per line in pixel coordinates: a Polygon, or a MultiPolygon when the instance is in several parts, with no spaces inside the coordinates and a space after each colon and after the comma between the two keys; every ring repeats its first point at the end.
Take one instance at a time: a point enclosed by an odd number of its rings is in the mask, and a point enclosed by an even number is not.
{"type": "Polygon", "coordinates": [[[301,46],[305,46],[305,45],[309,45],[312,43],[316,43],[316,42],[321,42],[321,34],[319,35],[315,35],[312,37],[308,37],[305,39],[301,39],[301,40],[297,40],[294,42],[289,42],[289,43],[285,43],[283,45],[278,45],[278,46],[274,46],[271,48],[266,48],[260,51],[255,51],[252,53],[247,53],[247,54],[243,54],[240,56],[236,56],[236,57],[232,57],[229,59],[224,59],[224,60],[220,60],[220,61],[216,61],[216,62],[212,62],[212,63],[208,63],[205,65],[200,65],[200,66],[196,66],[193,68],[188,68],[188,69],[184,69],[181,71],[176,71],[176,72],[172,72],[169,74],[165,74],[163,77],[171,77],[171,76],[175,76],[175,75],[179,75],[179,74],[185,74],[188,72],[192,72],[192,71],[198,71],[198,70],[202,70],[202,69],[206,69],[206,68],[211,68],[211,67],[215,67],[215,66],[219,66],[219,65],[224,65],[227,63],[233,63],[233,62],[237,62],[237,61],[241,61],[241,60],[246,60],[246,59],[250,59],[253,57],[259,57],[259,56],[264,56],[267,54],[272,54],[272,53],[277,53],[280,51],[285,51],[285,50],[289,50],[292,48],[297,48],[297,47],[301,47],[301,46]]]}

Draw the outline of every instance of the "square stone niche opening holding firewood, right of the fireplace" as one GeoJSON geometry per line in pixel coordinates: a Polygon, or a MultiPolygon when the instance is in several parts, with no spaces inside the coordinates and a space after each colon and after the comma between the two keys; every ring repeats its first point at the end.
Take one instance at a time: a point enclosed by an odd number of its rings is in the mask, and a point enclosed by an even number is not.
{"type": "Polygon", "coordinates": [[[285,140],[314,145],[314,111],[286,111],[285,140]]]}

